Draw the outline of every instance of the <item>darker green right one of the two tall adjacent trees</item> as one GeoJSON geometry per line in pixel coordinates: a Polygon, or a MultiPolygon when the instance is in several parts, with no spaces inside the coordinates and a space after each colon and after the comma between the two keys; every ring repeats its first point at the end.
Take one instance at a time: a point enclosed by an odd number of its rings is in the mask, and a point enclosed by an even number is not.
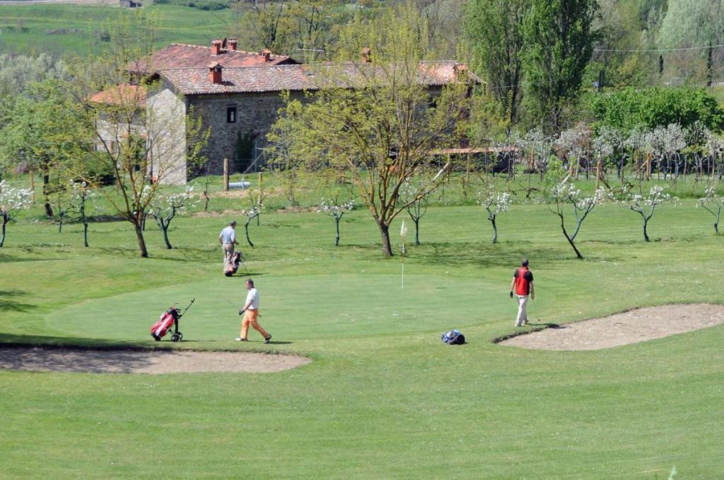
{"type": "Polygon", "coordinates": [[[597,0],[531,0],[523,22],[526,107],[548,131],[563,128],[598,38],[597,0]]]}

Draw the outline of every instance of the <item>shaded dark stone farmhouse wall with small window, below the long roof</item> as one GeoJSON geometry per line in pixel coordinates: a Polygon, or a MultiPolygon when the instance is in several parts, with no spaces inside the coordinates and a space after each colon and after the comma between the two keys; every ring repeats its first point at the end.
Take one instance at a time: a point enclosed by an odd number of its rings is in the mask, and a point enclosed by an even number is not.
{"type": "MultiPolygon", "coordinates": [[[[292,93],[291,97],[305,98],[300,92],[292,93]]],[[[229,159],[233,173],[243,170],[253,159],[262,155],[259,149],[266,146],[266,134],[277,119],[279,107],[284,103],[282,96],[275,92],[193,95],[188,97],[188,105],[193,109],[193,114],[200,115],[204,126],[210,129],[209,144],[204,154],[209,159],[209,173],[218,175],[224,171],[224,158],[229,159]],[[234,122],[227,121],[227,110],[231,106],[236,107],[234,122]],[[248,134],[253,138],[251,149],[244,155],[248,158],[237,158],[239,136],[248,134]]]]}

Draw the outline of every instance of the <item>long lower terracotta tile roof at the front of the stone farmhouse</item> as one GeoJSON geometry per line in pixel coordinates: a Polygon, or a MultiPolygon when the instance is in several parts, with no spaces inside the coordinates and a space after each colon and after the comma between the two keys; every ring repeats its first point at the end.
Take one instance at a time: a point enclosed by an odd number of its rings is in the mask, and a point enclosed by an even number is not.
{"type": "MultiPolygon", "coordinates": [[[[223,82],[209,81],[208,68],[162,69],[159,74],[168,80],[178,93],[183,95],[209,95],[223,93],[282,92],[286,90],[318,90],[317,69],[334,69],[332,78],[336,85],[354,87],[355,79],[361,75],[363,65],[326,64],[319,67],[308,65],[277,65],[268,67],[224,68],[223,82]]],[[[442,86],[455,81],[465,64],[455,61],[426,62],[421,64],[419,78],[426,86],[442,86]]],[[[480,79],[468,72],[473,82],[480,79]]],[[[324,75],[324,78],[329,76],[324,75]]]]}

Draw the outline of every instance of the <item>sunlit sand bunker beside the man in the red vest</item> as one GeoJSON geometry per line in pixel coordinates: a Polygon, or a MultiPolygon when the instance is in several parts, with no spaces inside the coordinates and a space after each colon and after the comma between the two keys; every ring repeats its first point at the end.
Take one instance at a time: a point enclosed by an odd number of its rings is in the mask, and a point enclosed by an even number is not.
{"type": "Polygon", "coordinates": [[[724,323],[724,306],[665,305],[568,323],[503,340],[503,345],[544,350],[598,350],[639,343],[724,323]]]}

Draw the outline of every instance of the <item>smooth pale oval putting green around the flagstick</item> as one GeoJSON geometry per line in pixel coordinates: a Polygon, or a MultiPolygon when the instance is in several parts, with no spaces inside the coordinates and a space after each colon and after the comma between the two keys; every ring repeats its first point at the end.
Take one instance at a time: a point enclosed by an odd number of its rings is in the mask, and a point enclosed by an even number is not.
{"type": "MultiPolygon", "coordinates": [[[[500,284],[432,275],[315,275],[259,278],[260,323],[274,339],[341,338],[444,330],[510,316],[500,284]],[[474,301],[471,301],[474,299],[474,301]]],[[[195,304],[182,318],[187,341],[228,340],[245,298],[242,277],[83,301],[46,317],[51,330],[85,338],[143,340],[170,304],[195,304]]],[[[252,338],[253,339],[253,338],[252,338]]]]}

